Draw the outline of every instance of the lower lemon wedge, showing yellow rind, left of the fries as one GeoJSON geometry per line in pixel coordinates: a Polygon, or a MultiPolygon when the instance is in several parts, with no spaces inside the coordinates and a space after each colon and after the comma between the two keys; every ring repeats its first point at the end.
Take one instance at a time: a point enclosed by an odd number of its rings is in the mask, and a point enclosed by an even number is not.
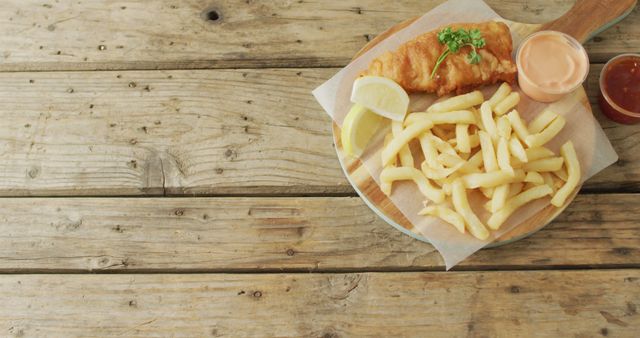
{"type": "Polygon", "coordinates": [[[382,116],[362,105],[354,104],[342,122],[342,148],[353,157],[362,155],[373,135],[382,125],[382,116]]]}

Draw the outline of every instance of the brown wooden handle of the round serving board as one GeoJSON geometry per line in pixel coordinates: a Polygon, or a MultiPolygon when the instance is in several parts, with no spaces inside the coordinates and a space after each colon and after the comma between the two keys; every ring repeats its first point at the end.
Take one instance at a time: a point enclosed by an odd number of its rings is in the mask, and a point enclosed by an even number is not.
{"type": "Polygon", "coordinates": [[[637,0],[578,0],[557,20],[542,25],[540,30],[569,34],[584,43],[615,25],[636,6],[637,0]]]}

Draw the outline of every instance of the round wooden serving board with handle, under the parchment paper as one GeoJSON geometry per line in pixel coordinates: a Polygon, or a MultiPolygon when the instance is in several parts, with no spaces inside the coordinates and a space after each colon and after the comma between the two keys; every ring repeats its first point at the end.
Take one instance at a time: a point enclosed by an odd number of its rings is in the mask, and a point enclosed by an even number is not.
{"type": "MultiPolygon", "coordinates": [[[[503,19],[511,29],[514,37],[514,50],[520,44],[523,38],[531,33],[539,30],[556,30],[567,33],[575,37],[580,42],[586,42],[599,32],[609,28],[615,23],[622,20],[628,15],[636,5],[637,0],[582,0],[578,1],[565,15],[555,21],[546,24],[526,24],[503,19]]],[[[395,32],[409,26],[417,18],[412,18],[399,23],[375,39],[365,45],[354,58],[360,56],[380,41],[386,39],[395,32]]],[[[584,88],[579,90],[584,91],[584,88]]],[[[586,95],[577,95],[580,101],[576,104],[582,104],[585,109],[591,111],[591,106],[586,95]]],[[[345,155],[340,140],[340,127],[333,123],[333,137],[336,145],[336,152],[340,164],[349,179],[353,188],[358,192],[365,203],[382,219],[391,224],[405,234],[412,236],[418,240],[428,242],[418,231],[413,229],[412,224],[404,217],[402,212],[398,210],[393,202],[380,190],[375,180],[371,177],[368,170],[362,165],[360,160],[345,155]]],[[[549,205],[539,213],[524,220],[520,225],[510,232],[503,234],[496,241],[491,243],[489,247],[507,244],[518,239],[527,237],[534,232],[542,229],[549,224],[556,216],[558,216],[577,195],[580,187],[567,199],[567,202],[560,208],[549,205]]]]}

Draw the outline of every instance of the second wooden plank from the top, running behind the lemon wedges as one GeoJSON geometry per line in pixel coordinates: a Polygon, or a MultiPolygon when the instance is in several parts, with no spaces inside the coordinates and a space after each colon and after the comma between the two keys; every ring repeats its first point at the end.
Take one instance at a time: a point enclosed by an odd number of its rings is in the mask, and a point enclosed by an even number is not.
{"type": "MultiPolygon", "coordinates": [[[[0,195],[354,194],[310,95],[336,71],[0,73],[0,195]]],[[[621,160],[585,188],[640,191],[637,128],[593,108],[621,160]]]]}

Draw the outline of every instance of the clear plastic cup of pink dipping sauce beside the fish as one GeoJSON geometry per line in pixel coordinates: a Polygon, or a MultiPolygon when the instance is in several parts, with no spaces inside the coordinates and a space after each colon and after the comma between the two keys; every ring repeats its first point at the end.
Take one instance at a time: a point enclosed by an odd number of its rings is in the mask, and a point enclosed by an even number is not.
{"type": "Polygon", "coordinates": [[[589,57],[571,36],[541,31],[526,38],[516,54],[518,84],[527,96],[553,102],[574,91],[589,72],[589,57]]]}

